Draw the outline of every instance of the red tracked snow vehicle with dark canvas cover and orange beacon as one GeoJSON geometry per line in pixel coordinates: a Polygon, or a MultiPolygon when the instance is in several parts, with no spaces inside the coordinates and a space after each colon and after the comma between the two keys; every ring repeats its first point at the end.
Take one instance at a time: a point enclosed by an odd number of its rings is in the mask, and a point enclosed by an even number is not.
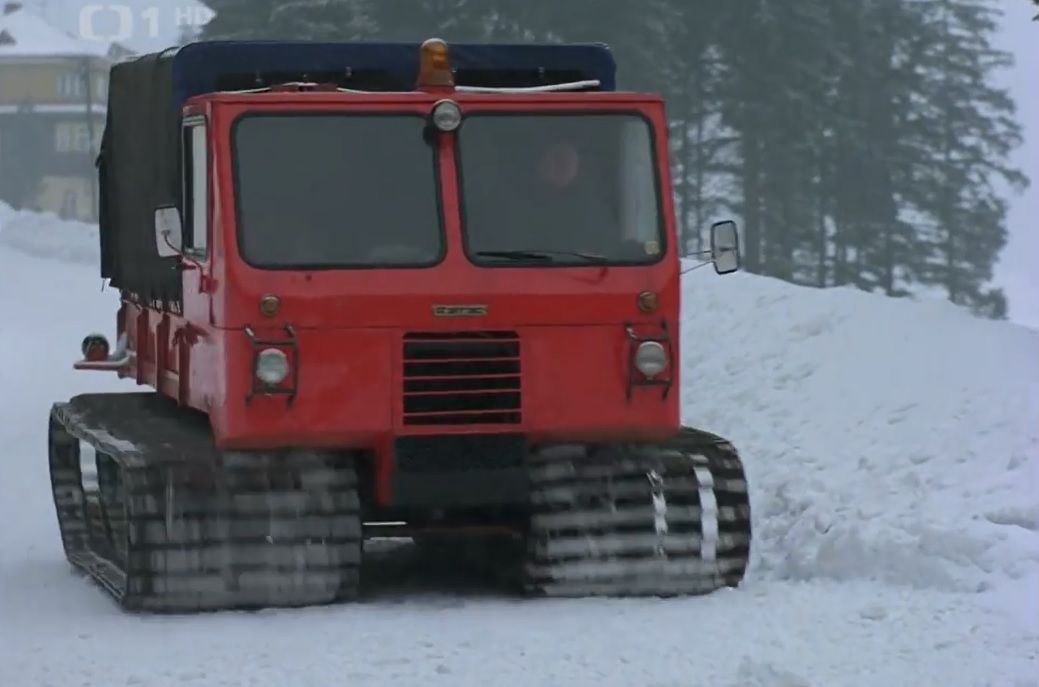
{"type": "Polygon", "coordinates": [[[194,44],[113,68],[99,171],[117,345],[76,366],[153,390],[56,403],[50,466],[124,607],[351,599],[394,531],[508,534],[531,593],[742,579],[741,460],[680,417],[664,105],[605,47],[194,44]]]}

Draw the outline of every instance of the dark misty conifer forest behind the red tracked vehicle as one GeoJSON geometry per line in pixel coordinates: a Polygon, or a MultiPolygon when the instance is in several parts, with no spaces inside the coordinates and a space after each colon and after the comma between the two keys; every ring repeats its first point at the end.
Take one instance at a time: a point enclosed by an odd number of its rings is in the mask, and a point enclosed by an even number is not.
{"type": "Polygon", "coordinates": [[[663,94],[682,243],[735,216],[745,268],[945,293],[1006,317],[1021,127],[994,85],[1006,0],[208,0],[204,39],[595,42],[663,94]]]}

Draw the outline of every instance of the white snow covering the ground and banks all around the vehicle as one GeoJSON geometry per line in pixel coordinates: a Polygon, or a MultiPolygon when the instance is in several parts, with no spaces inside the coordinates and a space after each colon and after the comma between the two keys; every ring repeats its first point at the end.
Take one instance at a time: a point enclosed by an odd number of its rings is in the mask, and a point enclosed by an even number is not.
{"type": "Polygon", "coordinates": [[[50,403],[128,388],[71,369],[111,335],[95,240],[0,212],[4,687],[1039,686],[1039,333],[710,270],[687,278],[683,393],[746,457],[741,589],[516,600],[388,554],[356,605],[124,614],[64,562],[47,476],[50,403]]]}

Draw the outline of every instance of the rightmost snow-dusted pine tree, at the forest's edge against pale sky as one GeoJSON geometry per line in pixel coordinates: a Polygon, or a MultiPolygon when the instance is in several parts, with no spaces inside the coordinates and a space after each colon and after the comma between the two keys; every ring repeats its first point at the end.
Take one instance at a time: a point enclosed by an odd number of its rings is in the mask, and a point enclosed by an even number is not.
{"type": "Polygon", "coordinates": [[[1007,242],[1007,202],[992,187],[1028,179],[1007,163],[1021,141],[1016,107],[991,83],[1012,57],[990,45],[1000,10],[987,0],[918,2],[930,31],[918,54],[927,74],[925,106],[916,118],[916,144],[928,151],[913,202],[927,219],[931,248],[923,284],[941,286],[955,303],[991,317],[1005,316],[1006,298],[987,289],[1007,242]]]}

